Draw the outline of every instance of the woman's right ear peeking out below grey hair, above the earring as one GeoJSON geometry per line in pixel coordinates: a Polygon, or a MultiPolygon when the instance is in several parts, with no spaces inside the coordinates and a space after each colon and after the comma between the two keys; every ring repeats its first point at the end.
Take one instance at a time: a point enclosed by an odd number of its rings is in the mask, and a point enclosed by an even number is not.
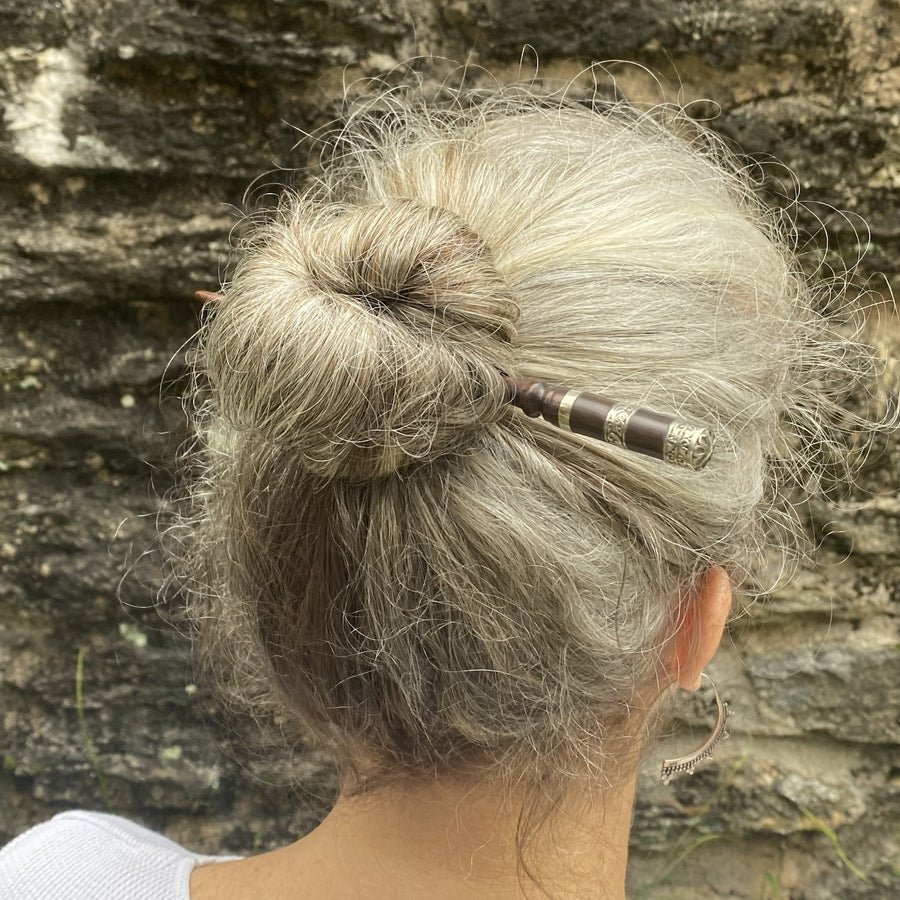
{"type": "Polygon", "coordinates": [[[721,566],[713,566],[688,598],[666,660],[666,669],[680,687],[687,691],[700,687],[700,674],[719,648],[730,610],[731,579],[721,566]]]}

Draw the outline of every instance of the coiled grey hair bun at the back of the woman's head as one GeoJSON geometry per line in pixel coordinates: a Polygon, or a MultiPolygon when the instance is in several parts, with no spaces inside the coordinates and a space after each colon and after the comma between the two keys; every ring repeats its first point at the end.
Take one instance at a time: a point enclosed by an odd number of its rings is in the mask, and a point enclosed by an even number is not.
{"type": "Polygon", "coordinates": [[[463,449],[505,407],[518,310],[446,209],[294,198],[251,239],[202,350],[223,424],[366,481],[463,449]]]}

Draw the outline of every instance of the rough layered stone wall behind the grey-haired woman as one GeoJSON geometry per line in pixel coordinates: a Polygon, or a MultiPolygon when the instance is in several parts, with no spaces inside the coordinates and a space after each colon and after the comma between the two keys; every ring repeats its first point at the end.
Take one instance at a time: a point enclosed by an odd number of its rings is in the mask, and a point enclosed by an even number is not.
{"type": "MultiPolygon", "coordinates": [[[[0,0],[0,44],[0,842],[83,806],[249,852],[327,804],[316,760],[286,791],[212,736],[153,609],[153,532],[191,293],[251,179],[294,161],[284,122],[334,116],[342,81],[424,53],[511,79],[526,44],[555,77],[636,60],[658,78],[612,66],[626,94],[721,110],[815,201],[804,239],[818,216],[829,253],[866,247],[859,284],[900,288],[897,0],[0,0]]],[[[733,737],[642,782],[635,896],[900,896],[898,463],[817,508],[818,564],[735,622],[714,666],[733,737]]]]}

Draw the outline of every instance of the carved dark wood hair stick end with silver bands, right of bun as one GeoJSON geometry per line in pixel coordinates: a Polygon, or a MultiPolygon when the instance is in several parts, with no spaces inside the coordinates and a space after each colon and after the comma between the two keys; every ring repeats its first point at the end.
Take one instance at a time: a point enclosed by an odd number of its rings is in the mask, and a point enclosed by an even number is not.
{"type": "Polygon", "coordinates": [[[510,403],[526,416],[540,416],[551,425],[598,438],[687,469],[702,469],[715,444],[711,429],[674,416],[626,406],[587,391],[552,387],[542,381],[516,381],[504,374],[510,403]]]}

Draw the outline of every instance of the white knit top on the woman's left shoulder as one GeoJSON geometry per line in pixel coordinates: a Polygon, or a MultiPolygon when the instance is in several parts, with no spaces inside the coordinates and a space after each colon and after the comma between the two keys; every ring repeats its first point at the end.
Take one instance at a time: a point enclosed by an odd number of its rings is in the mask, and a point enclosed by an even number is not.
{"type": "Polygon", "coordinates": [[[190,900],[191,853],[107,813],[66,812],[0,849],[2,900],[190,900]]]}

